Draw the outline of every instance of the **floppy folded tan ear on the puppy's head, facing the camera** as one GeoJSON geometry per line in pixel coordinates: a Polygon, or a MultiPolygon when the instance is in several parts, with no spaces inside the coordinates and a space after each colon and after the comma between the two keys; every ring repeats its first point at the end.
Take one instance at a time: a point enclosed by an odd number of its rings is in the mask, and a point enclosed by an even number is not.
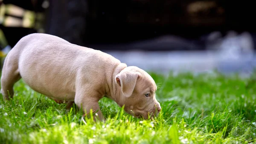
{"type": "Polygon", "coordinates": [[[125,97],[131,96],[138,76],[138,72],[122,72],[116,75],[116,83],[121,87],[121,92],[125,97]]]}

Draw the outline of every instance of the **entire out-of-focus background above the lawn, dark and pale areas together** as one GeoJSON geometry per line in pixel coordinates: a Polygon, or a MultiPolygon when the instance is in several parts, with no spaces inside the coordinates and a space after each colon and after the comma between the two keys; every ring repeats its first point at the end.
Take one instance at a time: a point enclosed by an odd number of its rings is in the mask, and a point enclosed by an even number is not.
{"type": "Polygon", "coordinates": [[[157,73],[250,75],[252,0],[0,0],[0,49],[31,33],[56,35],[157,73]]]}

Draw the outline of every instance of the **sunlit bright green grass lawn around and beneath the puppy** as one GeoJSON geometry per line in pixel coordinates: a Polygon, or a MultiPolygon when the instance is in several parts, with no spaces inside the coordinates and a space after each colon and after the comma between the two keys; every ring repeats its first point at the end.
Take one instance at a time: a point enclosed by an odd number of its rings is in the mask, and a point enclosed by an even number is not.
{"type": "Polygon", "coordinates": [[[82,119],[15,84],[12,101],[0,100],[0,143],[4,144],[255,144],[255,76],[218,73],[169,76],[152,74],[162,111],[153,120],[133,118],[114,101],[100,106],[107,121],[82,119]]]}

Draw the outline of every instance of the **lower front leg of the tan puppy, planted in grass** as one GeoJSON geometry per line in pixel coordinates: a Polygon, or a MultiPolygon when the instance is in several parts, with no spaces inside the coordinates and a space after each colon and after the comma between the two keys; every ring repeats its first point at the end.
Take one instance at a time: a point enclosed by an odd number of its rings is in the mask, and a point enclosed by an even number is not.
{"type": "Polygon", "coordinates": [[[99,108],[99,97],[97,95],[82,95],[82,94],[76,94],[75,97],[75,104],[79,109],[82,108],[83,112],[85,114],[90,114],[90,109],[93,110],[93,116],[94,121],[96,121],[96,118],[100,121],[104,121],[105,118],[99,108]]]}

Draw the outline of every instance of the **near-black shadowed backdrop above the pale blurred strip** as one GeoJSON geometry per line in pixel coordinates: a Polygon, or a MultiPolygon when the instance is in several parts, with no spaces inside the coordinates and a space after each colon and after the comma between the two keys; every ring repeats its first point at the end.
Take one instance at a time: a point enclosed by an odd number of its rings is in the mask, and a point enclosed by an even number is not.
{"type": "MultiPolygon", "coordinates": [[[[205,50],[205,36],[230,30],[250,32],[255,41],[252,0],[48,0],[46,9],[44,0],[2,3],[44,12],[45,33],[100,50],[205,50]],[[161,43],[154,39],[165,35],[171,37],[161,43]]],[[[12,47],[21,37],[38,32],[0,29],[12,47]]]]}

